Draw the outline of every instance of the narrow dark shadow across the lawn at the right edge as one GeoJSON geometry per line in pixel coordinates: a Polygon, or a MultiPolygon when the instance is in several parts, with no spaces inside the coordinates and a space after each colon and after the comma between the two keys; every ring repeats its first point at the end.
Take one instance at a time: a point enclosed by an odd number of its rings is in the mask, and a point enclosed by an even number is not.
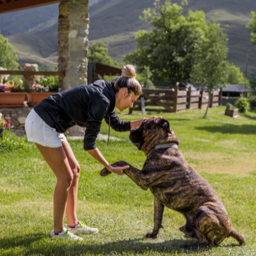
{"type": "Polygon", "coordinates": [[[219,126],[202,126],[202,127],[195,127],[195,129],[207,130],[210,132],[229,133],[229,134],[256,134],[255,125],[249,125],[249,124],[243,124],[243,125],[224,124],[219,126]]]}

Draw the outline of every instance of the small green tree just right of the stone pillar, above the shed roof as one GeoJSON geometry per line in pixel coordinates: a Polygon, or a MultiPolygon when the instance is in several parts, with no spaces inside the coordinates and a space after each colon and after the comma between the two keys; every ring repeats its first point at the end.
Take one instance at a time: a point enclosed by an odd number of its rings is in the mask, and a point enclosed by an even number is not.
{"type": "Polygon", "coordinates": [[[110,56],[108,56],[108,49],[104,42],[98,41],[92,43],[88,47],[88,62],[98,62],[101,64],[118,67],[117,61],[114,61],[110,56]]]}

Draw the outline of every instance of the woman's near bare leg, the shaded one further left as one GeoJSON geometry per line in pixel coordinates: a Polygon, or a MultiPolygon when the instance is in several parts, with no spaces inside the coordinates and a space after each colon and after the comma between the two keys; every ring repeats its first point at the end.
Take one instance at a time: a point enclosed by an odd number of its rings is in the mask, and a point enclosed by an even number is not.
{"type": "Polygon", "coordinates": [[[68,190],[72,183],[73,173],[63,146],[52,148],[35,144],[57,178],[53,195],[53,226],[54,232],[59,232],[63,229],[68,190]]]}

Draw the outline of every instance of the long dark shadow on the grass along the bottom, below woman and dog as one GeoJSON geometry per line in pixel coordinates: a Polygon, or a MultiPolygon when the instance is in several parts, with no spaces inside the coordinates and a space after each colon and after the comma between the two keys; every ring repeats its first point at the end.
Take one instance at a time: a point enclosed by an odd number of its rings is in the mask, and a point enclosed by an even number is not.
{"type": "MultiPolygon", "coordinates": [[[[86,237],[85,242],[86,242],[86,237]]],[[[50,239],[48,235],[34,233],[26,236],[15,236],[0,239],[2,249],[14,249],[18,247],[24,250],[24,255],[83,255],[83,254],[123,254],[123,253],[192,253],[203,252],[208,249],[195,245],[195,240],[171,239],[163,242],[149,242],[147,239],[129,239],[106,243],[91,243],[50,239]],[[147,242],[148,241],[148,242],[147,242]],[[191,245],[186,248],[184,245],[191,245]]],[[[14,253],[13,253],[14,254],[14,253]]]]}

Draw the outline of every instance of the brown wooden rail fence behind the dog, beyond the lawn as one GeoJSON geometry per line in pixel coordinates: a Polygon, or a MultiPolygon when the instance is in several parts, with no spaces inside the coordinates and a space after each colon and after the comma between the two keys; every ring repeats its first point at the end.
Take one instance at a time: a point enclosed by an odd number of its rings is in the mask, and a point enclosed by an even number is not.
{"type": "Polygon", "coordinates": [[[178,90],[172,89],[143,89],[143,93],[136,100],[129,113],[132,111],[159,111],[177,112],[184,109],[206,108],[210,97],[209,107],[221,105],[222,90],[213,91],[209,95],[203,90],[178,90]],[[142,100],[141,100],[142,98],[142,100]]]}

